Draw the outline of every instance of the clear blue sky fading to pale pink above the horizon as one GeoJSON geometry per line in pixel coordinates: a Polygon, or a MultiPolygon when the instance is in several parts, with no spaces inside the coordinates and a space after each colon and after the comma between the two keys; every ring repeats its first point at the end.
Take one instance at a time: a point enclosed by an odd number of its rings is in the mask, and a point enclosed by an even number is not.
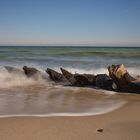
{"type": "Polygon", "coordinates": [[[0,45],[140,46],[140,0],[0,0],[0,45]]]}

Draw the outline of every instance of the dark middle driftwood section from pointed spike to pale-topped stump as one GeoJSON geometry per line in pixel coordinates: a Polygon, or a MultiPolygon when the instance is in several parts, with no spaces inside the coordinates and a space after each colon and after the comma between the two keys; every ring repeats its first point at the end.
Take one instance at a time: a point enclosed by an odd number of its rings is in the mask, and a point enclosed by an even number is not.
{"type": "Polygon", "coordinates": [[[73,86],[96,86],[112,90],[113,80],[106,74],[72,74],[63,68],[60,69],[73,86]]]}

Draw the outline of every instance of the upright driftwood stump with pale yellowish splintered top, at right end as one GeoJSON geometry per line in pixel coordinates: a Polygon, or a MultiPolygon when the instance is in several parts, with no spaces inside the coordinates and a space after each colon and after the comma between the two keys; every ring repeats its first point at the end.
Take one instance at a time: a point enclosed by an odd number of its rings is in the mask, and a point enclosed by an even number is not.
{"type": "Polygon", "coordinates": [[[109,66],[108,71],[109,76],[117,85],[114,90],[140,93],[140,81],[136,81],[136,79],[127,72],[123,64],[109,66]]]}

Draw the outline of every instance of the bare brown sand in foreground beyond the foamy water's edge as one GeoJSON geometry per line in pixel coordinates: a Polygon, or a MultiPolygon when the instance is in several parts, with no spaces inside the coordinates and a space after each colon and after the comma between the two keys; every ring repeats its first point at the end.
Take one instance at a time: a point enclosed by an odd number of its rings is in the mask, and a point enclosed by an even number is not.
{"type": "Polygon", "coordinates": [[[1,118],[0,140],[139,140],[140,95],[121,96],[128,103],[103,115],[1,118]]]}

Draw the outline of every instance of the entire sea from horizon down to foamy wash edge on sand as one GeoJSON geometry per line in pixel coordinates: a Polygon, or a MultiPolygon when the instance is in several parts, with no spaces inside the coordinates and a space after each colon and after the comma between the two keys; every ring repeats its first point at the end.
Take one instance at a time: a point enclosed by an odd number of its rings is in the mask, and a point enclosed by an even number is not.
{"type": "Polygon", "coordinates": [[[108,74],[107,66],[124,64],[134,76],[140,74],[139,47],[0,46],[0,117],[89,116],[125,105],[120,93],[95,87],[65,86],[53,82],[45,70],[108,74]],[[45,78],[10,74],[4,66],[22,70],[35,67],[45,78]]]}

